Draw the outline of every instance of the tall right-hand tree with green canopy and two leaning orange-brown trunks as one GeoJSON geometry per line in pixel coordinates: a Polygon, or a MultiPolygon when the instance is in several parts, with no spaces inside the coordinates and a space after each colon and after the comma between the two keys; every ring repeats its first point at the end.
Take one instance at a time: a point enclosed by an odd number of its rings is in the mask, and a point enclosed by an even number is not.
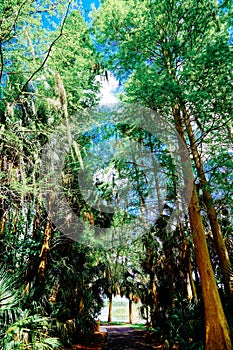
{"type": "MultiPolygon", "coordinates": [[[[108,0],[103,2],[94,17],[94,30],[99,43],[106,46],[110,67],[119,76],[129,77],[127,99],[159,111],[173,122],[183,142],[190,146],[204,187],[207,214],[228,292],[230,281],[226,271],[229,260],[207,181],[203,177],[204,169],[197,163],[200,152],[195,153],[197,140],[192,138],[190,125],[195,129],[201,125],[209,133],[212,131],[211,120],[214,120],[215,127],[229,120],[229,71],[232,67],[228,46],[230,10],[221,11],[214,1],[208,4],[192,0],[182,3],[137,1],[133,4],[130,1],[108,0]],[[218,62],[216,69],[216,56],[222,53],[220,48],[224,50],[225,60],[224,64],[218,62]],[[210,84],[213,81],[218,96],[213,93],[210,84]],[[220,120],[216,118],[217,111],[221,115],[220,120]],[[199,118],[195,119],[197,115],[199,118]]],[[[187,161],[182,160],[184,164],[187,161]]],[[[230,349],[228,326],[208,254],[195,185],[189,216],[205,304],[206,348],[230,349]],[[213,313],[217,322],[213,322],[213,313]]]]}

